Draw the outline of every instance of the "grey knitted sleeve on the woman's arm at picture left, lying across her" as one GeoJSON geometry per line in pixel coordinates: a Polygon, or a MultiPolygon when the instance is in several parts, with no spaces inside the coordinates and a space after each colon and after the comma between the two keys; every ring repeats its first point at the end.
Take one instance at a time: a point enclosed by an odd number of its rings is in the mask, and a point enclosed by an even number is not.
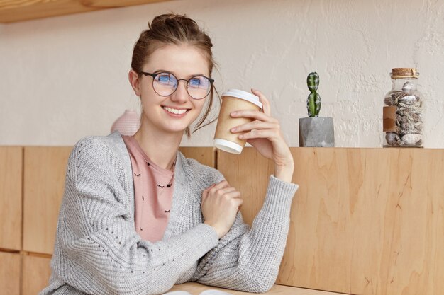
{"type": "Polygon", "coordinates": [[[79,141],[70,156],[52,271],[87,294],[162,294],[218,236],[198,224],[164,241],[142,241],[128,204],[131,177],[111,147],[97,141],[79,141]]]}

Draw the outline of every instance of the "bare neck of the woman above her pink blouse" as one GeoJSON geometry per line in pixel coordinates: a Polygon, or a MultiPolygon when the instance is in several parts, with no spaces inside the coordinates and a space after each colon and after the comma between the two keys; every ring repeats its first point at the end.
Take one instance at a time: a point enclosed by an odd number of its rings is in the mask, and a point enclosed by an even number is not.
{"type": "Polygon", "coordinates": [[[167,134],[158,129],[141,126],[138,132],[135,132],[134,138],[151,161],[157,166],[172,170],[182,135],[183,132],[167,134]]]}

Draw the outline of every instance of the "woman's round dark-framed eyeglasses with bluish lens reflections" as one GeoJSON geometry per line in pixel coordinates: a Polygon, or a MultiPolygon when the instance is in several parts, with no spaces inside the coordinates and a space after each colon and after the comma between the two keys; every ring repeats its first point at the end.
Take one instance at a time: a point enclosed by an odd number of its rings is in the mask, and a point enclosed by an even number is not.
{"type": "Polygon", "coordinates": [[[206,98],[211,91],[211,86],[214,80],[206,76],[192,76],[190,79],[177,79],[171,73],[160,72],[160,73],[146,73],[141,71],[140,74],[145,76],[152,76],[152,88],[155,93],[160,96],[171,96],[177,90],[179,86],[179,81],[187,81],[187,92],[189,96],[194,99],[206,98]]]}

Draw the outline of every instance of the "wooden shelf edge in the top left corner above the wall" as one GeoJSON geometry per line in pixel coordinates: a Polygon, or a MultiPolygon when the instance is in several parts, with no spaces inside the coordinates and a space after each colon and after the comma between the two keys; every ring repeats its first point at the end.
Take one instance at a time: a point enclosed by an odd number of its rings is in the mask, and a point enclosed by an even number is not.
{"type": "Polygon", "coordinates": [[[165,0],[0,0],[0,23],[48,18],[165,0]]]}

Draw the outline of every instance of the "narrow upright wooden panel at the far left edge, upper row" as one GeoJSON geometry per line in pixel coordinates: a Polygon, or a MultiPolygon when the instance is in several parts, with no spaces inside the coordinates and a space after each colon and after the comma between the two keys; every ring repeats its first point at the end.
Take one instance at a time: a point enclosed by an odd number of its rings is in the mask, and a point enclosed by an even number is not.
{"type": "Polygon", "coordinates": [[[21,249],[23,148],[0,147],[0,248],[21,249]]]}

